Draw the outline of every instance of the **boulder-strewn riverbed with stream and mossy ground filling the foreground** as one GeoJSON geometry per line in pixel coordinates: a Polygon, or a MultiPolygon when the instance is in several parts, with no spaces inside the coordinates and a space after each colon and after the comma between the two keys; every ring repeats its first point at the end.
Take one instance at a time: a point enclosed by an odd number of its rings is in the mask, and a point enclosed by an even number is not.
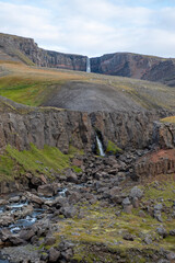
{"type": "Polygon", "coordinates": [[[175,179],[135,178],[148,150],[80,156],[58,182],[0,199],[0,262],[174,262],[175,179]]]}

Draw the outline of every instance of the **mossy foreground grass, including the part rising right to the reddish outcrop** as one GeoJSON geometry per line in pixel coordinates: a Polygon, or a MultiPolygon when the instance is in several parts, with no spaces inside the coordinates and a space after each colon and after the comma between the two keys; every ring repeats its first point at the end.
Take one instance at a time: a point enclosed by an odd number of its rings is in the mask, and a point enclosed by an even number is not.
{"type": "MultiPolygon", "coordinates": [[[[139,185],[138,185],[139,186],[139,185]]],[[[75,255],[80,262],[117,262],[115,261],[114,251],[119,251],[122,258],[127,258],[124,262],[150,262],[147,261],[145,254],[154,254],[156,250],[161,248],[175,252],[175,239],[174,237],[162,238],[158,235],[158,227],[163,226],[166,231],[174,229],[175,218],[171,217],[173,211],[172,205],[175,198],[175,180],[173,176],[156,178],[154,182],[148,182],[139,186],[144,190],[144,195],[141,199],[140,208],[133,208],[131,214],[121,213],[117,214],[119,206],[104,207],[101,203],[90,205],[89,203],[78,204],[81,209],[83,218],[79,216],[59,221],[59,232],[56,232],[56,247],[60,241],[60,237],[63,240],[73,241],[75,247],[75,255]],[[161,203],[168,207],[167,211],[162,213],[163,222],[159,222],[155,218],[149,215],[147,211],[147,202],[152,202],[153,206],[161,203]],[[141,207],[144,216],[140,216],[141,207]],[[125,233],[130,233],[135,237],[133,241],[125,240],[122,237],[125,233]],[[147,244],[144,238],[149,237],[152,242],[147,244]],[[105,250],[97,249],[106,248],[105,250]],[[95,250],[96,249],[96,250],[95,250]],[[128,250],[136,250],[141,258],[137,256],[137,253],[132,254],[128,250]],[[107,251],[107,252],[106,252],[107,251]],[[145,254],[143,254],[145,251],[145,254]],[[106,253],[105,253],[106,252],[106,253]],[[83,261],[84,260],[84,261],[83,261]],[[102,260],[102,261],[101,261],[102,260]]],[[[129,191],[129,188],[128,188],[129,191]]],[[[152,261],[151,261],[152,262],[152,261]]]]}

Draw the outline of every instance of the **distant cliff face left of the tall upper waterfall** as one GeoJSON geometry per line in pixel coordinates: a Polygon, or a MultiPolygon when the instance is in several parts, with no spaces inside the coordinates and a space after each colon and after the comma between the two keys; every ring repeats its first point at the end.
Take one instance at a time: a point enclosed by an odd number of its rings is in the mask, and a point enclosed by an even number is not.
{"type": "Polygon", "coordinates": [[[0,59],[22,60],[40,67],[86,70],[86,57],[42,49],[32,38],[0,34],[0,59]]]}

